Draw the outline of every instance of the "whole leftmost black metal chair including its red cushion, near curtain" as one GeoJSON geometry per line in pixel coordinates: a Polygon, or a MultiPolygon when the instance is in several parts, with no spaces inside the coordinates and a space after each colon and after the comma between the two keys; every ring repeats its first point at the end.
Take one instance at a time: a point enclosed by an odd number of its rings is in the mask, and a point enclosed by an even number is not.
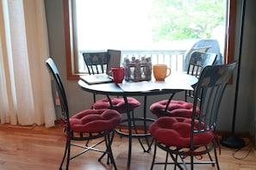
{"type": "Polygon", "coordinates": [[[66,149],[63,155],[59,169],[62,169],[64,161],[66,160],[66,169],[69,168],[69,162],[72,159],[87,153],[89,150],[94,150],[103,153],[98,159],[101,161],[104,155],[108,155],[107,164],[113,164],[116,168],[116,163],[113,157],[111,143],[114,137],[115,128],[120,124],[122,116],[119,112],[110,109],[92,110],[87,109],[74,114],[71,118],[69,115],[69,109],[66,99],[66,92],[59,71],[53,62],[53,58],[47,58],[47,68],[53,75],[56,83],[56,88],[59,94],[59,100],[61,104],[62,117],[60,118],[61,124],[64,127],[64,134],[66,137],[66,149]],[[93,141],[94,139],[101,139],[93,141]],[[84,144],[75,143],[78,141],[84,141],[84,144]],[[95,142],[95,143],[94,143],[95,142]],[[106,149],[97,149],[97,146],[101,143],[105,143],[106,149]],[[71,155],[72,146],[82,149],[79,153],[71,155]]]}

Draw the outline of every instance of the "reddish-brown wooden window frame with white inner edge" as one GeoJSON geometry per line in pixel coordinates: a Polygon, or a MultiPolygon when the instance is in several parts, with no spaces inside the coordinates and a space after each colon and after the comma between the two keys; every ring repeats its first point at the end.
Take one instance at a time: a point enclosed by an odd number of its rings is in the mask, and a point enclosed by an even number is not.
{"type": "MultiPolygon", "coordinates": [[[[64,17],[65,17],[65,39],[66,39],[66,68],[67,68],[67,79],[78,80],[78,76],[81,74],[78,72],[78,50],[75,49],[77,46],[77,37],[73,33],[76,29],[75,22],[72,21],[72,17],[75,17],[74,6],[72,0],[63,0],[64,4],[64,17]]],[[[225,39],[226,46],[224,47],[223,57],[224,63],[228,63],[234,60],[234,20],[235,20],[235,8],[236,4],[234,1],[227,0],[227,35],[225,39]]]]}

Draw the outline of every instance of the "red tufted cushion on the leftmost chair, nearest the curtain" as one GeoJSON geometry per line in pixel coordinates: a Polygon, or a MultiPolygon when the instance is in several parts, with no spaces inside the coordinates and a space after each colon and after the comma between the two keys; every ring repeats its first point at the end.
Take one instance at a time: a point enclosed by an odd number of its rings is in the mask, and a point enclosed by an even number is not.
{"type": "Polygon", "coordinates": [[[108,131],[116,128],[121,119],[121,114],[115,110],[84,110],[70,118],[71,131],[83,133],[108,131]]]}

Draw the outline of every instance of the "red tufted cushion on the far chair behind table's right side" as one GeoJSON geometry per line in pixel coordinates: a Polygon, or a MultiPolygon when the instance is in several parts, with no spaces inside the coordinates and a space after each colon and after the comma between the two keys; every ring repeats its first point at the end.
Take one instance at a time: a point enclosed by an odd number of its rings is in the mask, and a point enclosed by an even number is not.
{"type": "MultiPolygon", "coordinates": [[[[168,109],[165,113],[165,106],[167,105],[168,100],[161,100],[159,102],[153,103],[150,106],[151,112],[156,115],[158,118],[162,116],[173,116],[173,117],[184,117],[191,118],[193,111],[193,104],[190,102],[185,102],[181,100],[171,100],[168,109]]],[[[200,112],[197,107],[196,114],[200,112]]]]}

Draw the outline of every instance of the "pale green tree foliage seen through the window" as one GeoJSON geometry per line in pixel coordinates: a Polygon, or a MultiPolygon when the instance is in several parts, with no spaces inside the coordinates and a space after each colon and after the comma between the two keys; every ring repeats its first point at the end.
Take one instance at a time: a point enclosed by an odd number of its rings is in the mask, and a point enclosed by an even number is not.
{"type": "Polygon", "coordinates": [[[225,22],[225,0],[153,0],[153,41],[208,39],[225,22]]]}

